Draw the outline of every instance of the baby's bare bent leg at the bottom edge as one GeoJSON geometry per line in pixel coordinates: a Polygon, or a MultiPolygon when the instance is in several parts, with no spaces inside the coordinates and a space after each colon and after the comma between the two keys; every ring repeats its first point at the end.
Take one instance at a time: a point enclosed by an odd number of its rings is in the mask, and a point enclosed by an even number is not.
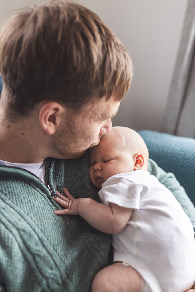
{"type": "Polygon", "coordinates": [[[96,274],[92,292],[141,292],[144,283],[134,268],[115,263],[96,274]]]}

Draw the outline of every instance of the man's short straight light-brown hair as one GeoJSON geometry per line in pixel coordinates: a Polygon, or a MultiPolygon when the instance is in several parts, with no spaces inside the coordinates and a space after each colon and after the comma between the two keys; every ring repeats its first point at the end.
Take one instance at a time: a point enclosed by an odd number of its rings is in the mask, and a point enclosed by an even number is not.
{"type": "Polygon", "coordinates": [[[51,1],[20,11],[0,32],[0,73],[10,117],[55,100],[77,110],[92,98],[121,100],[132,80],[122,42],[89,9],[51,1]]]}

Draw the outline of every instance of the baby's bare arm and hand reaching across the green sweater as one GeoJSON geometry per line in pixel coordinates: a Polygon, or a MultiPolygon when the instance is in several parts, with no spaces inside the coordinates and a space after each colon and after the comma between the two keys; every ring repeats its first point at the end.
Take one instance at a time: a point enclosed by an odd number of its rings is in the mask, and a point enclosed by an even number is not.
{"type": "Polygon", "coordinates": [[[66,188],[65,196],[56,192],[58,197],[53,199],[65,209],[54,211],[56,215],[80,215],[94,228],[109,234],[117,234],[130,220],[132,209],[116,204],[101,204],[90,198],[75,199],[66,188]]]}

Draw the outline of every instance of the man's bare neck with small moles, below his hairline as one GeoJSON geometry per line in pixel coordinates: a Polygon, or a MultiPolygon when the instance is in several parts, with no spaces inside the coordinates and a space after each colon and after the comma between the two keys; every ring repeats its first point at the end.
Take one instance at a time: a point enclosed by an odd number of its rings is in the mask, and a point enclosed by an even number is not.
{"type": "MultiPolygon", "coordinates": [[[[38,121],[25,119],[10,122],[0,110],[0,159],[13,163],[39,163],[42,155],[42,139],[38,121]]],[[[36,119],[36,117],[35,117],[36,119]]]]}

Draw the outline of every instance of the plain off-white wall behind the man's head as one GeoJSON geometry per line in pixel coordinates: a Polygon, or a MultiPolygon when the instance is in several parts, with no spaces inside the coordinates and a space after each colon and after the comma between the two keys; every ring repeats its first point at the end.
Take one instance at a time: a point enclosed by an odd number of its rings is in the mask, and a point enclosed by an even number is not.
{"type": "MultiPolygon", "coordinates": [[[[0,24],[9,11],[42,0],[0,0],[0,24]]],[[[123,41],[134,80],[113,125],[161,130],[187,0],[76,0],[99,14],[123,41]]]]}

